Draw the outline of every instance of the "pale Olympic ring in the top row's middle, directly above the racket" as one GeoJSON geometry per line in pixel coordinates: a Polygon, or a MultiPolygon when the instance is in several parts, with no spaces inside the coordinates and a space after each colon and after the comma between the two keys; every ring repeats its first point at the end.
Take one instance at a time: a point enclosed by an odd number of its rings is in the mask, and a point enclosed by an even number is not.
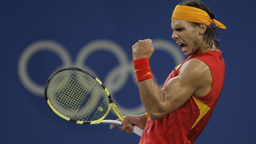
{"type": "MultiPolygon", "coordinates": [[[[105,78],[105,81],[103,81],[106,87],[108,87],[109,91],[111,93],[115,93],[125,84],[128,78],[127,75],[129,74],[129,71],[126,70],[127,65],[129,63],[128,58],[121,46],[106,40],[93,41],[83,46],[82,50],[77,55],[75,65],[78,67],[84,68],[84,63],[87,60],[87,58],[89,58],[89,55],[95,51],[101,51],[101,50],[112,53],[113,55],[115,55],[115,57],[119,62],[118,66],[114,67],[109,71],[109,73],[105,78]],[[115,79],[116,76],[119,76],[119,78],[116,79],[117,81],[112,83],[113,79],[115,79]]],[[[102,65],[104,64],[103,62],[104,60],[102,60],[102,65]]],[[[94,71],[93,71],[93,74],[95,74],[94,71]]]]}

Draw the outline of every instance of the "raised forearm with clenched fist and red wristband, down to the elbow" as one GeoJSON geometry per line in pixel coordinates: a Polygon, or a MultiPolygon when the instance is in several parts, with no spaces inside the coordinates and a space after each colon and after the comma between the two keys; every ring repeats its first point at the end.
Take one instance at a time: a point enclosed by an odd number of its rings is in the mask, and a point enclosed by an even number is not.
{"type": "Polygon", "coordinates": [[[139,40],[132,46],[134,72],[139,82],[141,101],[150,118],[159,118],[165,111],[165,97],[161,89],[153,80],[149,58],[154,53],[151,39],[139,40]]]}

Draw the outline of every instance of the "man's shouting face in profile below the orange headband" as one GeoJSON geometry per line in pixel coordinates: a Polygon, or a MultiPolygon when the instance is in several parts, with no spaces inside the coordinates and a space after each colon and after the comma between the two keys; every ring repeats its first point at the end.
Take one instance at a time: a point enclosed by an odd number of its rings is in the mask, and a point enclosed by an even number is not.
{"type": "Polygon", "coordinates": [[[189,56],[200,51],[202,36],[198,34],[198,27],[193,27],[185,20],[172,20],[172,38],[181,47],[182,52],[189,56]]]}

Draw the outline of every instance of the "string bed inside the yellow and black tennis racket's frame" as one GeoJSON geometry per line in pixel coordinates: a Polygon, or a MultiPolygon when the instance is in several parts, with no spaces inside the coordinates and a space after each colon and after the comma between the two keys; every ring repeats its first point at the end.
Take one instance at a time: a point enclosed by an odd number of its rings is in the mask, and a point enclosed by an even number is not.
{"type": "Polygon", "coordinates": [[[76,121],[95,121],[108,112],[109,101],[102,86],[80,71],[61,71],[47,90],[53,107],[76,121]]]}

